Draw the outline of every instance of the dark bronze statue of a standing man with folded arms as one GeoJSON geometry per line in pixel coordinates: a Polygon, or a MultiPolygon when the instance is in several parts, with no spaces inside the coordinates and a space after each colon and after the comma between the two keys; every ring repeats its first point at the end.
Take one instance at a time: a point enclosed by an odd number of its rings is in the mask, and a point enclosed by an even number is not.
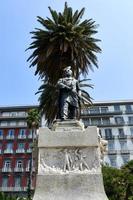
{"type": "Polygon", "coordinates": [[[57,86],[59,88],[59,119],[76,119],[80,88],[78,80],[72,77],[70,66],[64,69],[64,77],[58,80],[57,86]]]}

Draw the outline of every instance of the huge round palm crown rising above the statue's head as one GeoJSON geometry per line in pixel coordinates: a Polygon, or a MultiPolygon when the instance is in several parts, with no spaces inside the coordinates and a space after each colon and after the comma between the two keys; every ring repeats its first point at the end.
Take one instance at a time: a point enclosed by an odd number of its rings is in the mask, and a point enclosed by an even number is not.
{"type": "Polygon", "coordinates": [[[36,66],[35,75],[56,84],[63,69],[71,65],[73,75],[87,75],[93,65],[98,67],[96,53],[101,49],[99,39],[93,36],[98,25],[93,19],[81,21],[85,8],[73,12],[65,3],[64,11],[58,13],[49,7],[51,18],[37,17],[42,28],[31,32],[33,42],[28,49],[33,50],[28,58],[30,66],[36,66]],[[54,73],[56,72],[56,73],[54,73]]]}

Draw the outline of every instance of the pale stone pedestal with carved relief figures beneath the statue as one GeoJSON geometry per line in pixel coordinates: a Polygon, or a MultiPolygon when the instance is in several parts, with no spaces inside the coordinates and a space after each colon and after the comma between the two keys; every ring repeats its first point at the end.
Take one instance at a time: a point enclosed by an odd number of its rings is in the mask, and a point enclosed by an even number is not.
{"type": "MultiPolygon", "coordinates": [[[[96,127],[39,130],[39,160],[33,200],[107,200],[96,127]]],[[[77,124],[77,123],[76,123],[77,124]]]]}

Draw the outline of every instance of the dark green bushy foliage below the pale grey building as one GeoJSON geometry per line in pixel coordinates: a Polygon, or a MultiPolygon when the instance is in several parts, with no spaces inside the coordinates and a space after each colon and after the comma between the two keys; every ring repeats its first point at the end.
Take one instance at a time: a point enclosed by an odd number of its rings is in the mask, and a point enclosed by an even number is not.
{"type": "Polygon", "coordinates": [[[102,171],[109,200],[133,200],[133,160],[121,169],[103,166],[102,171]]]}

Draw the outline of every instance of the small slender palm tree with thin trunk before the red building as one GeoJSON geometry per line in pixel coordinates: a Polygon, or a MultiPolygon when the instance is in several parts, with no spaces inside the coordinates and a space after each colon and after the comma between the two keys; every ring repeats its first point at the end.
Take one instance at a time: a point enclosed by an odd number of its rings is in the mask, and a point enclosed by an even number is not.
{"type": "Polygon", "coordinates": [[[28,116],[27,116],[27,126],[28,128],[31,130],[32,133],[32,158],[31,158],[31,162],[30,162],[30,166],[29,166],[29,171],[30,171],[30,175],[29,175],[29,179],[28,179],[28,188],[27,188],[27,195],[28,195],[28,199],[31,200],[31,184],[32,184],[32,172],[33,172],[33,159],[34,159],[34,155],[35,154],[35,146],[37,145],[37,129],[39,128],[40,125],[40,114],[38,109],[30,109],[28,111],[28,116]],[[36,139],[36,140],[34,140],[36,139]],[[35,142],[36,141],[36,142],[35,142]],[[36,143],[36,144],[35,144],[36,143]]]}

